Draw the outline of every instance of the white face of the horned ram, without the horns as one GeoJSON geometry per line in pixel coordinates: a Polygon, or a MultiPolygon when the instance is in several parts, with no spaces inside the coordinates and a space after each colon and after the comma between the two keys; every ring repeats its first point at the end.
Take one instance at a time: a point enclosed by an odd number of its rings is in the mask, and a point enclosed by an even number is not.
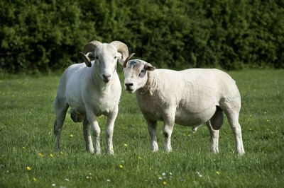
{"type": "Polygon", "coordinates": [[[95,70],[104,82],[107,83],[114,77],[118,59],[121,59],[121,54],[113,45],[102,44],[94,51],[95,70]]]}

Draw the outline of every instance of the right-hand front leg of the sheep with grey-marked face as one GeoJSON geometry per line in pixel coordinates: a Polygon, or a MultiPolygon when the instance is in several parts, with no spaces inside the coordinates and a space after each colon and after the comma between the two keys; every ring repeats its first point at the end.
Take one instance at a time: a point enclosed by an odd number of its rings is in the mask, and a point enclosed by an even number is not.
{"type": "Polygon", "coordinates": [[[170,144],[170,137],[172,136],[173,126],[175,125],[175,115],[174,113],[168,113],[164,117],[164,136],[165,136],[165,152],[172,151],[172,145],[170,144]]]}

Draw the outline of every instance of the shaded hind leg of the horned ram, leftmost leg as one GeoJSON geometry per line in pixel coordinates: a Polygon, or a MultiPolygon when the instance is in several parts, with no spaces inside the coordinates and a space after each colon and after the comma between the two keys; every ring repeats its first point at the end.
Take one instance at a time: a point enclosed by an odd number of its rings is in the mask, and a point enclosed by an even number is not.
{"type": "Polygon", "coordinates": [[[55,151],[58,151],[61,148],[61,131],[68,107],[69,106],[67,105],[67,103],[55,100],[55,122],[54,122],[54,135],[56,138],[55,151]]]}

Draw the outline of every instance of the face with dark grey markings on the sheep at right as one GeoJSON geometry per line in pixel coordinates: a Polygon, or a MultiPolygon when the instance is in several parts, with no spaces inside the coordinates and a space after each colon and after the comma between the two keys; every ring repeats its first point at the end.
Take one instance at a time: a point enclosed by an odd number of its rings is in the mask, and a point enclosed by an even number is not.
{"type": "Polygon", "coordinates": [[[143,88],[148,80],[147,71],[153,71],[155,67],[146,61],[133,59],[124,68],[124,88],[129,93],[143,88]]]}

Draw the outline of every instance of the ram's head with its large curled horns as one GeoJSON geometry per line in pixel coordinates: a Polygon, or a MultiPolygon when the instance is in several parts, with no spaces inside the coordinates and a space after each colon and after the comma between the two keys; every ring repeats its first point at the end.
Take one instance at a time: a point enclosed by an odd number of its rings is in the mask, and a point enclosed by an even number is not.
{"type": "Polygon", "coordinates": [[[107,44],[94,40],[79,53],[88,67],[92,66],[91,61],[94,60],[95,71],[104,82],[108,82],[114,76],[117,60],[124,62],[129,56],[129,49],[123,42],[113,41],[107,44]]]}

